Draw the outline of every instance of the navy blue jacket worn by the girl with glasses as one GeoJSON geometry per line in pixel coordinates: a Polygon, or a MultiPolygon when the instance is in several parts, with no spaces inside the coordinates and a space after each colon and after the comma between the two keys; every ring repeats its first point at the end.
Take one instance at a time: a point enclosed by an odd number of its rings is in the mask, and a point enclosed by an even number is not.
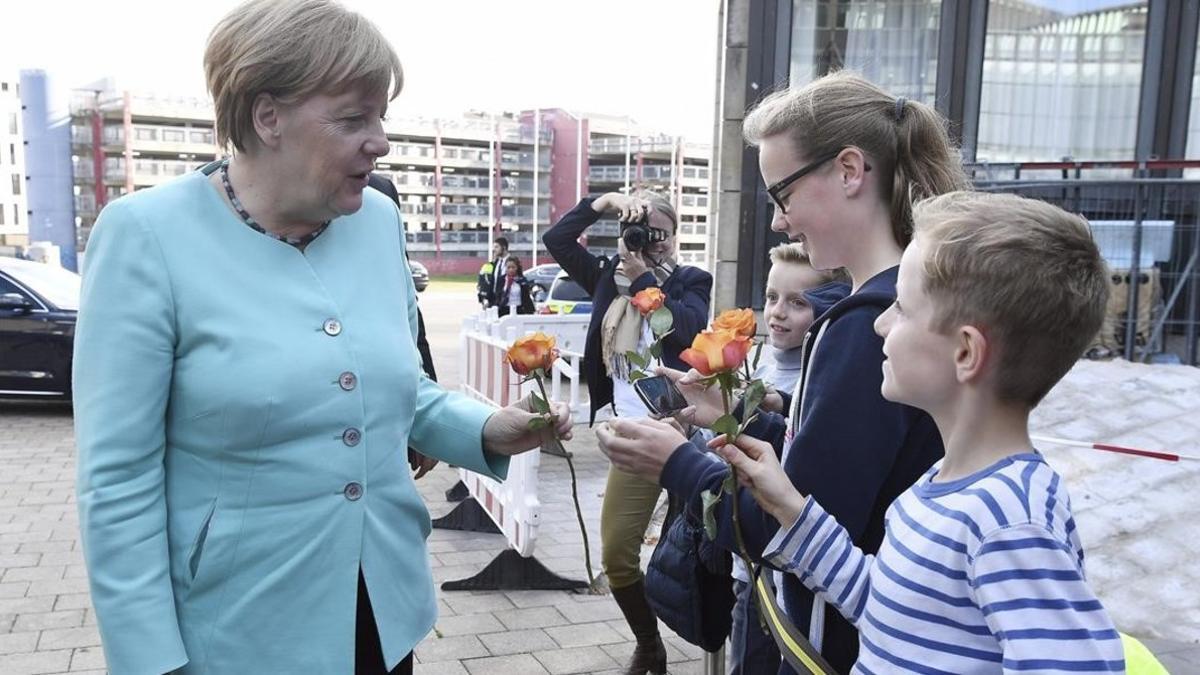
{"type": "MultiPolygon", "coordinates": [[[[942,458],[942,437],[923,411],[883,399],[883,339],[875,319],[895,299],[898,268],[871,277],[853,295],[839,301],[812,323],[811,344],[828,323],[815,354],[808,356],[808,392],[800,425],[792,438],[784,470],[792,484],[811,495],[838,519],[866,552],[878,551],[888,506],[942,458]]],[[[785,410],[788,402],[785,396],[785,410]]],[[[787,426],[784,416],[760,411],[748,434],[768,441],[782,455],[787,426]]],[[[719,490],[727,473],[724,462],[704,461],[704,448],[679,446],[662,470],[664,488],[698,504],[706,490],[719,490]]],[[[779,524],[750,495],[738,491],[742,532],[756,562],[779,524]]],[[[731,500],[720,502],[719,545],[736,550],[731,500]]],[[[696,506],[695,508],[698,508],[696,506]]],[[[784,575],[784,609],[809,633],[812,593],[793,574],[784,575]]],[[[858,633],[838,613],[826,613],[822,655],[838,671],[851,669],[858,656],[858,633]]],[[[781,673],[791,673],[785,662],[781,673]]]]}

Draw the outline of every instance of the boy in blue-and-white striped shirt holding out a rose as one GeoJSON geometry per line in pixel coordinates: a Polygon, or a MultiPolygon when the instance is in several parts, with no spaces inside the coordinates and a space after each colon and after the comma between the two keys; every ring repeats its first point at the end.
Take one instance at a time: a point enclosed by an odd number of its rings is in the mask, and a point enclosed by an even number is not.
{"type": "Polygon", "coordinates": [[[719,448],[781,524],[763,557],[857,625],[854,673],[1123,673],[1066,486],[1028,436],[1030,412],[1104,316],[1087,223],[983,192],[925,201],[913,220],[896,301],[875,324],[882,393],[930,413],[946,459],[892,503],[871,556],[769,444],[719,448]]]}

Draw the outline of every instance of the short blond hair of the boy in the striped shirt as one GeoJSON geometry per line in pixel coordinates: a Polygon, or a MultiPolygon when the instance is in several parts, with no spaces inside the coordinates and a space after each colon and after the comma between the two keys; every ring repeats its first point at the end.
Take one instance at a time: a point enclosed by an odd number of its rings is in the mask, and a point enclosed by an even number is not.
{"type": "Polygon", "coordinates": [[[913,208],[934,329],[998,345],[996,394],[1036,406],[1104,321],[1108,268],[1081,216],[1015,195],[950,192],[913,208]]]}

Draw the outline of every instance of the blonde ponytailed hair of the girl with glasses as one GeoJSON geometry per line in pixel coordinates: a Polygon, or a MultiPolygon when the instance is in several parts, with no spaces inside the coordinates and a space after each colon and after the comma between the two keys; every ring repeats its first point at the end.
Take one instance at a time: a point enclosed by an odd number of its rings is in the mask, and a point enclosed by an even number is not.
{"type": "Polygon", "coordinates": [[[850,71],[767,96],[746,115],[743,135],[752,145],[786,136],[809,159],[850,147],[865,153],[881,177],[892,177],[882,184],[900,246],[912,239],[913,202],[968,187],[937,110],[892,96],[850,71]]]}

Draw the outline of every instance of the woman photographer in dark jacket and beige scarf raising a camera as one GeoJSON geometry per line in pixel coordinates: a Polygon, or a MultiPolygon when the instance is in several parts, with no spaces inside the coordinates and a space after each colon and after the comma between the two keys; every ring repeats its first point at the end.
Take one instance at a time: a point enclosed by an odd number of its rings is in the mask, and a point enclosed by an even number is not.
{"type": "MultiPolygon", "coordinates": [[[[659,287],[674,316],[674,329],[662,345],[662,363],[686,370],[679,353],[708,323],[713,276],[674,259],[679,219],[660,195],[608,192],[586,198],[546,231],[542,241],[554,261],[592,294],[592,321],[583,350],[583,372],[592,398],[592,417],[612,405],[618,417],[646,417],[648,411],[629,381],[625,353],[653,342],[649,322],[629,301],[638,291],[659,287]],[[618,255],[595,256],[578,238],[605,214],[620,222],[618,255]],[[611,217],[611,216],[610,216],[611,217]]],[[[658,621],[646,602],[640,554],[642,538],[661,488],[616,467],[608,468],[600,512],[601,561],[613,599],[637,638],[626,674],[666,673],[666,651],[658,621]]]]}

